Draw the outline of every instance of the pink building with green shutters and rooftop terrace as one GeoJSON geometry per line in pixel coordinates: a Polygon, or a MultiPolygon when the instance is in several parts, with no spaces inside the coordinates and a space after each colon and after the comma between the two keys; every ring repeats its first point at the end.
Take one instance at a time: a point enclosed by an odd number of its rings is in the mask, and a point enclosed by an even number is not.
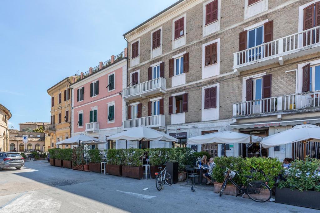
{"type": "MultiPolygon", "coordinates": [[[[126,105],[122,99],[126,87],[126,49],[117,56],[77,76],[71,84],[72,136],[86,134],[106,140],[107,136],[122,131],[126,105]]],[[[115,143],[100,145],[113,148],[115,143]]],[[[114,147],[115,148],[115,147],[114,147]]]]}

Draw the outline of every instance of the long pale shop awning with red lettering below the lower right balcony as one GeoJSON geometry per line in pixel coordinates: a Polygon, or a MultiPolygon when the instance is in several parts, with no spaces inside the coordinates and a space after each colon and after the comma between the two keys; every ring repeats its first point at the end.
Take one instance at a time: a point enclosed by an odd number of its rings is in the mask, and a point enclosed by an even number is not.
{"type": "Polygon", "coordinates": [[[274,120],[268,122],[256,122],[256,123],[242,123],[242,124],[230,124],[230,129],[248,129],[248,128],[266,128],[270,126],[288,126],[288,125],[301,125],[307,124],[318,124],[320,123],[319,117],[309,119],[287,119],[287,120],[274,120]]]}

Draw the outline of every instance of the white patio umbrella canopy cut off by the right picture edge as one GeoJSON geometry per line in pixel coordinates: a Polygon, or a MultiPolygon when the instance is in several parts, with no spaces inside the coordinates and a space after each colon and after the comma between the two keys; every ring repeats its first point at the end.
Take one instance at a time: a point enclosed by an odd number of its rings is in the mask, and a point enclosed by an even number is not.
{"type": "Polygon", "coordinates": [[[269,148],[298,141],[320,142],[320,127],[311,124],[297,125],[286,131],[263,138],[261,146],[269,148]]]}

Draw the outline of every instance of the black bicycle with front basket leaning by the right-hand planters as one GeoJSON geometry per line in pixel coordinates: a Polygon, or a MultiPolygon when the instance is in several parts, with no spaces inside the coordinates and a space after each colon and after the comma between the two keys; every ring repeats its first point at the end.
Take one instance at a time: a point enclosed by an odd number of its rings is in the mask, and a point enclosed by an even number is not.
{"type": "Polygon", "coordinates": [[[239,172],[236,170],[230,170],[228,167],[225,166],[223,166],[223,168],[226,168],[226,171],[224,172],[225,179],[220,188],[219,196],[222,195],[223,190],[226,188],[228,181],[230,181],[240,191],[238,194],[236,194],[236,196],[242,194],[243,197],[245,194],[247,194],[248,197],[250,197],[253,201],[256,202],[266,202],[270,200],[271,189],[265,182],[259,180],[251,180],[253,178],[253,175],[244,175],[244,177],[246,177],[247,180],[245,186],[242,187],[236,184],[235,181],[233,181],[233,178],[236,176],[236,174],[239,175],[239,172]]]}

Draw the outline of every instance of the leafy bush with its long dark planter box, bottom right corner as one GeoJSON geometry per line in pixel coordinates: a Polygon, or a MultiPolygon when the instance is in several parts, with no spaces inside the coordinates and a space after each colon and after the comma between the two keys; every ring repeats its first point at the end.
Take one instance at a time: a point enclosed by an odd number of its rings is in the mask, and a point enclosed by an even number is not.
{"type": "Polygon", "coordinates": [[[305,161],[295,160],[285,170],[286,180],[276,188],[276,202],[320,209],[320,160],[307,156],[305,161]]]}

